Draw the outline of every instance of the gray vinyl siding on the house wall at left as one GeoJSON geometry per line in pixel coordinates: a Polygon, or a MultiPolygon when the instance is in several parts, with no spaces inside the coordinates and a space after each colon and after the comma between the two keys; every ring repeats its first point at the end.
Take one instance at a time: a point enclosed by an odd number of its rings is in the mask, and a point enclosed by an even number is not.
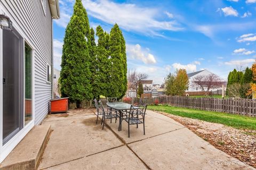
{"type": "MultiPolygon", "coordinates": [[[[48,0],[1,0],[1,7],[34,46],[35,124],[50,111],[52,83],[46,83],[46,63],[52,68],[52,16],[48,0]]],[[[52,71],[52,69],[51,69],[52,71]]]]}

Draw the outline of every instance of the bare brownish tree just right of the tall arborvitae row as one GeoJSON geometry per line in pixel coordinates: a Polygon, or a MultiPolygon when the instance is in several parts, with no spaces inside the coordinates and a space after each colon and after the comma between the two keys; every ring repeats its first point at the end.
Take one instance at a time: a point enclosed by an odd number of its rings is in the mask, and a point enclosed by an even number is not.
{"type": "Polygon", "coordinates": [[[142,82],[148,78],[147,73],[140,73],[136,70],[129,70],[127,72],[128,89],[134,89],[136,94],[138,93],[139,82],[142,82]]]}

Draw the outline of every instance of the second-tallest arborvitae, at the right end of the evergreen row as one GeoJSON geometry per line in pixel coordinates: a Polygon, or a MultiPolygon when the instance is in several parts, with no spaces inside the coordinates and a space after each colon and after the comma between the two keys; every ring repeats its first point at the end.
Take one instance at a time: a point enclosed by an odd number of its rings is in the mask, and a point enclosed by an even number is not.
{"type": "Polygon", "coordinates": [[[109,39],[109,60],[110,60],[110,86],[107,97],[122,98],[125,95],[124,89],[127,86],[124,76],[124,64],[122,54],[122,38],[117,24],[110,31],[109,39]]]}

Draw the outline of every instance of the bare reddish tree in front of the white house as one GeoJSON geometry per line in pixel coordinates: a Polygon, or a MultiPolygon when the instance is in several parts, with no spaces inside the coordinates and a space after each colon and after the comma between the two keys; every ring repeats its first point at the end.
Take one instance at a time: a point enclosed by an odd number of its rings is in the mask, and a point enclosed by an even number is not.
{"type": "Polygon", "coordinates": [[[210,90],[222,87],[225,81],[221,81],[218,75],[212,73],[209,75],[197,75],[192,83],[193,87],[201,88],[207,95],[210,90]]]}

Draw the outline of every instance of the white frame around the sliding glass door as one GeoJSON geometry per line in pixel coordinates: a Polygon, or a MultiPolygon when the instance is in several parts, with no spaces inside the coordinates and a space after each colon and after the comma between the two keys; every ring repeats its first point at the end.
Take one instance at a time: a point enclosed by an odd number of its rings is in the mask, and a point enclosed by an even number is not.
{"type": "MultiPolygon", "coordinates": [[[[10,154],[10,152],[18,145],[18,143],[25,137],[25,135],[34,127],[35,125],[35,47],[33,43],[27,38],[26,34],[18,27],[12,16],[6,12],[3,7],[0,6],[0,14],[5,14],[9,16],[12,21],[13,28],[19,32],[23,38],[23,48],[25,48],[25,42],[32,49],[32,119],[25,126],[25,118],[23,118],[23,129],[21,129],[17,134],[14,135],[9,141],[7,141],[3,146],[3,30],[0,29],[0,163],[10,154]]],[[[23,50],[23,60],[25,60],[25,50],[23,50]]],[[[25,62],[23,64],[25,67],[25,62]]],[[[23,74],[23,79],[25,79],[25,74],[23,74]]],[[[25,91],[25,81],[23,81],[23,91],[25,91]]],[[[23,92],[23,105],[25,106],[25,93],[23,92]]],[[[23,107],[23,116],[25,116],[25,107],[23,107]]]]}

